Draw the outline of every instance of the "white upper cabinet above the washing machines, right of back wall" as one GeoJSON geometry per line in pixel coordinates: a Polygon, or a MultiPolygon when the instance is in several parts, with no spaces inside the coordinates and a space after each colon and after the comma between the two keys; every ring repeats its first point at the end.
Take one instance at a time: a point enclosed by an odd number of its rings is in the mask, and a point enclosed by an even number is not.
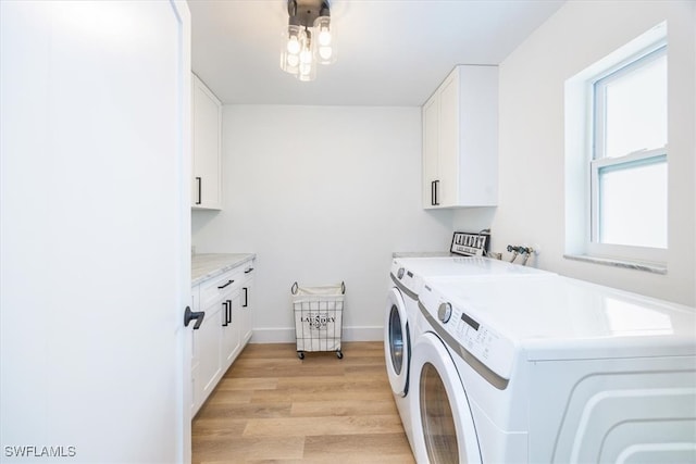
{"type": "Polygon", "coordinates": [[[498,67],[455,67],[422,112],[423,208],[495,206],[498,67]]]}

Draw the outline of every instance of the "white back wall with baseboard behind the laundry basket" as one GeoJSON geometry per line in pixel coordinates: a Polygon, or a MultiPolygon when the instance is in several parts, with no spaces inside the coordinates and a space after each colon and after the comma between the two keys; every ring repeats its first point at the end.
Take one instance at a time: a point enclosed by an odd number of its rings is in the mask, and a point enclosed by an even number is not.
{"type": "Polygon", "coordinates": [[[443,251],[452,213],[421,206],[418,108],[227,105],[222,212],[196,252],[256,252],[254,341],[294,341],[290,286],[345,280],[344,338],[382,339],[394,251],[443,251]]]}

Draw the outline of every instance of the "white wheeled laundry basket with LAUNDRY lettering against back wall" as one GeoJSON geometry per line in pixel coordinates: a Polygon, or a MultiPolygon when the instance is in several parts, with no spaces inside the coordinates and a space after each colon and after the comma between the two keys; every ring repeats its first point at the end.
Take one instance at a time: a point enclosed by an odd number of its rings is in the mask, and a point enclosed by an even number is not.
{"type": "Polygon", "coordinates": [[[306,351],[334,351],[341,359],[344,297],[346,285],[300,287],[295,283],[293,310],[295,312],[295,338],[297,358],[304,359],[306,351]]]}

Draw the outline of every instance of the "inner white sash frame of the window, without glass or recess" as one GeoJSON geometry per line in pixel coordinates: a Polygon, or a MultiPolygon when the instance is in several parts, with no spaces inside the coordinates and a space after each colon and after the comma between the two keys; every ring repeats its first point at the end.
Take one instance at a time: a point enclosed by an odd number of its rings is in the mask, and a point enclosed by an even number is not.
{"type": "Polygon", "coordinates": [[[606,158],[605,156],[605,91],[608,84],[620,79],[636,68],[644,66],[651,61],[667,55],[667,42],[661,40],[652,43],[650,47],[630,57],[607,70],[605,73],[597,75],[592,80],[592,153],[589,155],[589,234],[586,243],[587,254],[599,258],[614,258],[626,261],[664,263],[667,262],[667,248],[637,247],[614,243],[601,243],[599,237],[599,172],[607,167],[616,167],[617,170],[627,170],[636,165],[645,165],[650,163],[667,163],[668,147],[651,147],[649,150],[644,149],[627,153],[622,156],[606,158]]]}

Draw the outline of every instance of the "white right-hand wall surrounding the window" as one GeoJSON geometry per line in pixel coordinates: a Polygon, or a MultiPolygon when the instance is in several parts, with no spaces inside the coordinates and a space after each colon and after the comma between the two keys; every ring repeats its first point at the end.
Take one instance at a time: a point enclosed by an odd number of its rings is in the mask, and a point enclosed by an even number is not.
{"type": "MultiPolygon", "coordinates": [[[[487,213],[495,250],[504,251],[508,243],[536,243],[540,246],[536,264],[542,268],[696,304],[695,9],[692,1],[570,1],[501,63],[500,201],[495,212],[487,213]],[[669,35],[668,274],[566,260],[564,81],[664,20],[669,35]]],[[[457,212],[456,228],[467,225],[471,215],[471,211],[457,212]]]]}

